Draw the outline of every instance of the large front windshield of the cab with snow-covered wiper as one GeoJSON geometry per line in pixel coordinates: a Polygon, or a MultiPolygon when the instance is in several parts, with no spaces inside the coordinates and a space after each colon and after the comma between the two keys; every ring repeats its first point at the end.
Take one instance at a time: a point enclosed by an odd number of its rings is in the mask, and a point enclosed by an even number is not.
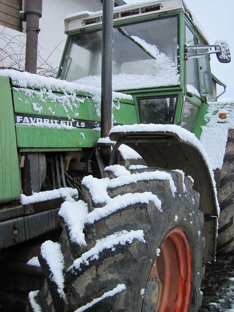
{"type": "MultiPolygon", "coordinates": [[[[102,31],[71,36],[60,78],[100,86],[102,31]]],[[[113,90],[179,84],[178,22],[168,17],[115,27],[113,90]]]]}

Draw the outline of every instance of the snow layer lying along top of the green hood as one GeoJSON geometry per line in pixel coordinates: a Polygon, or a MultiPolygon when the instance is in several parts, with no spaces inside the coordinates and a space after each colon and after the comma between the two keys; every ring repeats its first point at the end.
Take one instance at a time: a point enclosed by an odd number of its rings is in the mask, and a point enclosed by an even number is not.
{"type": "MultiPolygon", "coordinates": [[[[32,108],[38,114],[42,113],[44,109],[51,113],[52,108],[49,106],[48,109],[47,102],[50,102],[51,105],[54,103],[56,105],[56,102],[58,102],[65,113],[70,111],[71,114],[73,112],[73,108],[78,109],[79,106],[84,102],[84,99],[77,97],[77,93],[88,92],[94,102],[96,114],[98,117],[100,117],[101,89],[100,87],[98,88],[97,85],[79,85],[77,83],[55,79],[52,77],[45,77],[28,72],[19,72],[8,69],[0,70],[0,76],[9,76],[12,79],[13,85],[18,85],[20,87],[19,89],[14,87],[14,90],[21,90],[31,100],[33,100],[35,97],[38,98],[41,101],[41,106],[38,107],[38,104],[36,103],[32,104],[32,108]],[[28,87],[32,89],[29,89],[28,87]],[[62,92],[63,95],[57,95],[54,93],[54,91],[62,92]]],[[[113,101],[118,101],[121,98],[132,100],[131,95],[118,92],[112,92],[112,98],[113,101]]],[[[76,117],[75,114],[77,114],[77,112],[73,114],[74,117],[76,117]]]]}

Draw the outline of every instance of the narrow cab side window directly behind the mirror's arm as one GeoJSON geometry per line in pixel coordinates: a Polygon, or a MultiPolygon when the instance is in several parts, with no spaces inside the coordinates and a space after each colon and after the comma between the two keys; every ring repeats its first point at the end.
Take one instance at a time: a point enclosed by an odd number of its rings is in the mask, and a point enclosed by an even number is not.
{"type": "MultiPolygon", "coordinates": [[[[188,46],[196,45],[196,38],[191,30],[186,26],[185,40],[188,46]]],[[[195,50],[189,49],[188,55],[194,55],[195,50]]],[[[189,57],[186,61],[186,87],[188,90],[193,90],[194,95],[200,96],[199,91],[199,80],[198,80],[198,67],[197,67],[197,59],[193,57],[189,57]],[[195,88],[195,89],[194,89],[195,88]]]]}

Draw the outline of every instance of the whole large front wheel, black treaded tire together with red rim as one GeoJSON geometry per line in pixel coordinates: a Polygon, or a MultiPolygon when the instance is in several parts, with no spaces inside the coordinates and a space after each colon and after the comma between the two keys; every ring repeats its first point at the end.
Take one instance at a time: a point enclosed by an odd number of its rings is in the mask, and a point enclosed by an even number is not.
{"type": "MultiPolygon", "coordinates": [[[[134,173],[143,171],[156,169],[138,169],[134,173]]],[[[152,201],[136,203],[122,207],[92,224],[86,224],[88,246],[82,246],[80,250],[74,249],[71,241],[69,245],[70,238],[66,235],[65,224],[59,242],[65,261],[66,297],[61,298],[51,280],[46,261],[39,257],[47,282],[35,299],[43,312],[84,311],[80,307],[96,298],[101,299],[85,311],[162,312],[167,302],[172,311],[198,310],[202,301],[200,286],[204,275],[204,238],[201,235],[203,215],[198,210],[199,196],[192,189],[191,179],[185,177],[184,191],[180,173],[158,171],[171,174],[177,188],[174,196],[169,181],[162,179],[142,180],[107,190],[111,198],[126,193],[152,192],[161,200],[162,211],[152,201]],[[115,245],[115,249],[104,249],[97,259],[90,259],[89,264],[80,265],[80,269],[73,266],[74,259],[95,246],[96,240],[119,231],[132,230],[142,230],[145,242],[135,238],[124,245],[115,245]],[[72,270],[67,270],[69,266],[73,266],[72,270]],[[117,291],[116,287],[122,289],[117,291]],[[115,294],[108,296],[107,293],[112,290],[116,290],[115,294]]],[[[108,175],[115,178],[111,172],[108,175]]],[[[89,194],[86,198],[89,198],[89,194]]],[[[90,206],[89,211],[93,208],[90,206]]],[[[35,311],[32,304],[30,309],[35,311]]]]}

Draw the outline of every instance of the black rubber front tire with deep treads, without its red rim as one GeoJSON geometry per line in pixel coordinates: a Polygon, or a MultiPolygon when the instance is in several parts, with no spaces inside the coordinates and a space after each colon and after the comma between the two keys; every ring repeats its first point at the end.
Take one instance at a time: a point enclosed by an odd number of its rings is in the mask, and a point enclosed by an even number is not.
{"type": "MultiPolygon", "coordinates": [[[[155,170],[160,169],[138,169],[134,170],[134,173],[136,171],[155,170]]],[[[182,175],[174,171],[166,170],[166,172],[171,174],[177,188],[174,197],[168,180],[144,180],[108,189],[110,197],[125,193],[152,192],[161,200],[163,212],[155,207],[154,202],[124,207],[98,222],[87,225],[85,231],[88,246],[82,246],[80,250],[78,250],[79,248],[74,249],[72,244],[69,245],[69,239],[64,228],[59,242],[65,257],[66,270],[71,266],[74,258],[93,247],[97,239],[117,231],[143,230],[146,243],[134,239],[131,244],[115,246],[115,251],[104,250],[99,255],[98,260],[90,261],[88,266],[81,266],[81,271],[70,270],[71,274],[68,274],[69,272],[65,270],[66,286],[64,292],[66,298],[64,300],[59,296],[56,285],[51,280],[51,272],[46,266],[46,261],[39,257],[47,282],[35,299],[43,312],[75,311],[93,299],[113,290],[118,284],[124,284],[126,289],[112,297],[101,300],[85,311],[152,311],[151,308],[145,310],[144,296],[140,295],[140,292],[141,289],[146,288],[157,248],[160,248],[167,233],[176,227],[182,228],[190,241],[193,272],[189,311],[196,312],[198,310],[202,301],[200,286],[204,275],[204,267],[202,267],[204,238],[200,235],[202,233],[203,214],[198,210],[199,195],[192,189],[190,178],[185,177],[184,179],[187,190],[184,193],[182,175]],[[177,221],[175,221],[175,215],[178,216],[177,221]],[[70,249],[69,246],[72,248],[70,249]]],[[[109,176],[111,177],[110,172],[109,176]]],[[[112,176],[112,178],[115,177],[112,176]]],[[[86,197],[90,202],[89,194],[86,197]]],[[[93,207],[90,206],[90,210],[92,209],[93,207]]],[[[168,300],[170,300],[170,294],[168,294],[168,300]]],[[[35,311],[30,304],[29,310],[35,311]]]]}

